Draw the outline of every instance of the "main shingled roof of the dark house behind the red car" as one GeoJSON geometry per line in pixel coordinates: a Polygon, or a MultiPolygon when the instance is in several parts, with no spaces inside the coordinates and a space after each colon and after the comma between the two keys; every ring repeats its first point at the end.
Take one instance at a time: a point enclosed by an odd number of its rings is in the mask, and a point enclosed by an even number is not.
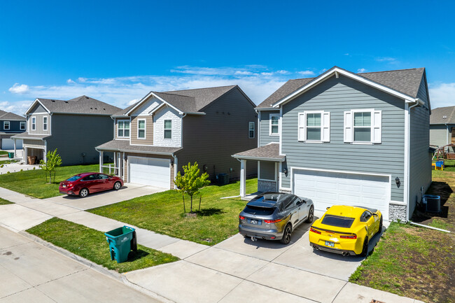
{"type": "Polygon", "coordinates": [[[39,103],[49,113],[72,113],[76,115],[113,115],[120,111],[117,106],[112,106],[105,102],[93,99],[87,96],[80,96],[70,100],[57,99],[41,99],[38,98],[27,109],[26,115],[31,111],[31,108],[39,103]]]}

